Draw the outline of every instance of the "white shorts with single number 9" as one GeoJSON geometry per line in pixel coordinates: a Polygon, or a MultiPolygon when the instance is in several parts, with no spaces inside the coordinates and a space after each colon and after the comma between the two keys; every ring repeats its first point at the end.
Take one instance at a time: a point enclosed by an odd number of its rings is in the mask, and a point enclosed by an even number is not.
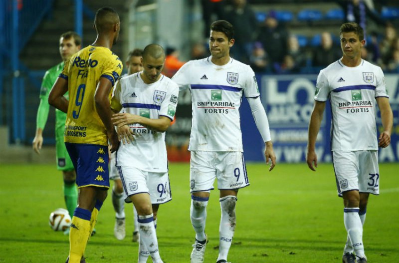
{"type": "Polygon", "coordinates": [[[233,190],[249,185],[244,155],[241,152],[192,151],[190,160],[190,189],[208,192],[214,189],[233,190]]]}

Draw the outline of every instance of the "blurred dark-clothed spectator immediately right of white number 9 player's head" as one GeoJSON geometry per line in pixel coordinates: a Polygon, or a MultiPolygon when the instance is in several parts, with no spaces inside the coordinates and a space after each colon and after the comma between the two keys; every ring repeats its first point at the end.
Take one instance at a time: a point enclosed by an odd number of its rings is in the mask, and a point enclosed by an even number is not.
{"type": "Polygon", "coordinates": [[[258,28],[255,13],[246,0],[232,0],[232,7],[226,11],[225,19],[234,26],[235,42],[231,48],[231,56],[248,63],[258,28]]]}

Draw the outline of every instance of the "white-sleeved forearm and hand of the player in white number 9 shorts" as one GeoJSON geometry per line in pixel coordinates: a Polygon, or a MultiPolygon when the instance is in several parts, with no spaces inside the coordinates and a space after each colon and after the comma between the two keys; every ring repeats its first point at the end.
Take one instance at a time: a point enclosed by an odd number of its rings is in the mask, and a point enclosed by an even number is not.
{"type": "Polygon", "coordinates": [[[249,106],[251,107],[251,112],[253,119],[255,120],[256,127],[262,139],[265,143],[265,157],[266,163],[269,164],[269,159],[271,161],[269,171],[273,170],[276,165],[276,155],[273,150],[273,143],[270,137],[270,129],[269,129],[269,121],[267,119],[267,115],[265,109],[263,108],[262,103],[260,102],[260,98],[247,98],[249,106]]]}

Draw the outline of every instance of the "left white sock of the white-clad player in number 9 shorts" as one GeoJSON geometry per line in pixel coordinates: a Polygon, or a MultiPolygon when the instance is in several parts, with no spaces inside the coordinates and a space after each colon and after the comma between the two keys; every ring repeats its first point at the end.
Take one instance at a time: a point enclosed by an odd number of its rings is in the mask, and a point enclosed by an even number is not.
{"type": "Polygon", "coordinates": [[[208,200],[209,197],[191,196],[190,218],[198,241],[204,241],[206,239],[205,222],[208,200]]]}

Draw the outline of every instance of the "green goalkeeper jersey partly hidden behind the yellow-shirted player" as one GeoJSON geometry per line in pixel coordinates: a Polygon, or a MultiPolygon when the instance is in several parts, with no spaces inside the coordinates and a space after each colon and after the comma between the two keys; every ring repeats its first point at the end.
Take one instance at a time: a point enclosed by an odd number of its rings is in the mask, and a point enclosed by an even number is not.
{"type": "MultiPolygon", "coordinates": [[[[61,62],[49,70],[46,71],[43,77],[43,81],[41,82],[41,88],[40,88],[40,105],[37,110],[37,118],[36,118],[36,127],[41,128],[44,130],[44,126],[46,125],[47,122],[47,117],[48,117],[48,111],[50,108],[50,105],[48,104],[48,95],[50,93],[50,90],[57,79],[59,73],[61,73],[62,69],[64,67],[64,62],[61,62]]],[[[68,99],[68,92],[65,93],[64,95],[68,99]]],[[[65,120],[66,120],[66,113],[55,109],[55,130],[62,129],[65,126],[65,120]]]]}

